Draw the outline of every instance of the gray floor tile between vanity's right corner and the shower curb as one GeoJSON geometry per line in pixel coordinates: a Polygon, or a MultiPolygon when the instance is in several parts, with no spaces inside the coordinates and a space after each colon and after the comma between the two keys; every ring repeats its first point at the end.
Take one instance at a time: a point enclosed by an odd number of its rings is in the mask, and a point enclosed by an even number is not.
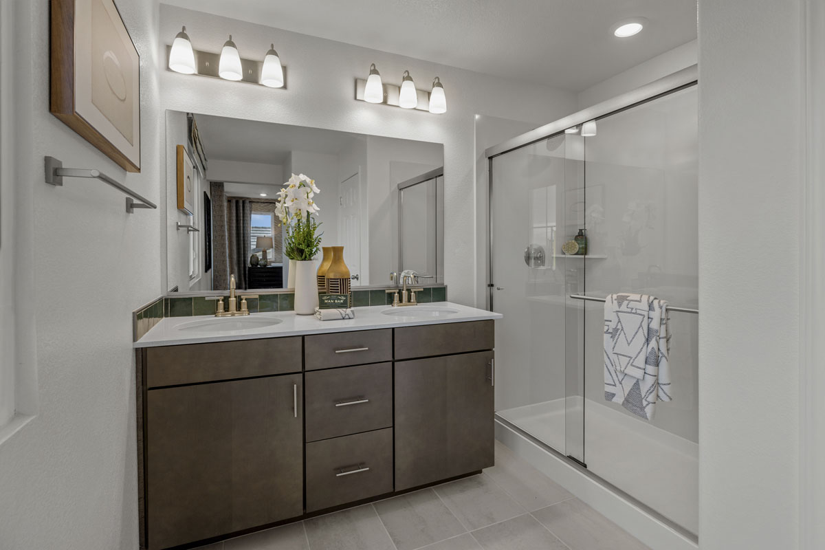
{"type": "Polygon", "coordinates": [[[498,441],[496,465],[485,469],[484,473],[530,512],[573,497],[564,487],[518,458],[498,441]]]}

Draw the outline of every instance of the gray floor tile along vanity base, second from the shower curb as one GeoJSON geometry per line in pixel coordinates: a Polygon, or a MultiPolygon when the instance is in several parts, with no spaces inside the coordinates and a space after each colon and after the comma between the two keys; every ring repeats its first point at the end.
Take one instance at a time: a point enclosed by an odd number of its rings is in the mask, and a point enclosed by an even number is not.
{"type": "Polygon", "coordinates": [[[434,487],[464,527],[481,529],[516,517],[525,509],[484,474],[434,487]]]}

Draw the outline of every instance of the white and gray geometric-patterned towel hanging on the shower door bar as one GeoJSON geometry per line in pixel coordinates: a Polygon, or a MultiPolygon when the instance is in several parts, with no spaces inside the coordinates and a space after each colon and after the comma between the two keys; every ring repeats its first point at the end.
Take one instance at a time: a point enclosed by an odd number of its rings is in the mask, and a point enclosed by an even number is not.
{"type": "Polygon", "coordinates": [[[605,301],[605,399],[648,421],[671,401],[667,321],[667,302],[647,294],[605,301]]]}

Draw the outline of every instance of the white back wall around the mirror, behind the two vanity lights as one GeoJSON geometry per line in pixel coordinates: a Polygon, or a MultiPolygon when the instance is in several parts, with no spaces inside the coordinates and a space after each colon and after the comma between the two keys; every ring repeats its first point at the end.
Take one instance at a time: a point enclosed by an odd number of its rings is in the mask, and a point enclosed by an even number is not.
{"type": "Polygon", "coordinates": [[[287,67],[288,89],[271,90],[163,71],[160,80],[164,109],[444,143],[445,239],[446,250],[450,251],[446,256],[446,282],[450,284],[450,299],[475,303],[474,114],[535,120],[540,125],[575,110],[577,101],[572,93],[161,7],[163,45],[171,43],[181,25],[186,25],[196,49],[216,51],[232,32],[236,38],[243,36],[243,40],[236,40],[241,54],[254,57],[256,52],[266,52],[274,40],[287,67]],[[422,89],[431,78],[441,77],[447,93],[447,113],[430,115],[355,101],[355,78],[364,78],[370,63],[376,63],[386,82],[396,84],[404,69],[418,78],[417,86],[422,89]]]}

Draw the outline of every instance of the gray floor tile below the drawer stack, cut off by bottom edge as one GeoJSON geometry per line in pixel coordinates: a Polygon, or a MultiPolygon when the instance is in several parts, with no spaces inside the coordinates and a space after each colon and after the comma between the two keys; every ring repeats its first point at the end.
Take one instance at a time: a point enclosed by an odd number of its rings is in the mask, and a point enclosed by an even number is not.
{"type": "Polygon", "coordinates": [[[372,505],[358,506],[304,522],[311,550],[394,550],[372,505]]]}

